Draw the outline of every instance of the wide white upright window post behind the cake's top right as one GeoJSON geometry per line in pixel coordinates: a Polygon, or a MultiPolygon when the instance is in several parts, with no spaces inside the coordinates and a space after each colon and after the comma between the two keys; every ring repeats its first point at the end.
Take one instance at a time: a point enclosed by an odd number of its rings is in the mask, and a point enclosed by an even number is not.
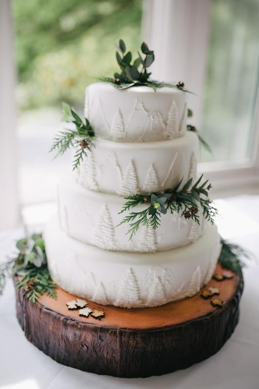
{"type": "Polygon", "coordinates": [[[188,104],[199,125],[206,69],[210,0],[144,1],[144,39],[155,51],[152,77],[160,81],[184,81],[196,93],[188,104]],[[173,76],[173,79],[172,79],[173,76]]]}

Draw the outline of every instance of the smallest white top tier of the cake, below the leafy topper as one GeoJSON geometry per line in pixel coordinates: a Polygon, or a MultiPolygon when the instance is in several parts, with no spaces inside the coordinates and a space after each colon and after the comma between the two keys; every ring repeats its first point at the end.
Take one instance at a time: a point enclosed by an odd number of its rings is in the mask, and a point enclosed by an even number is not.
{"type": "Polygon", "coordinates": [[[96,136],[113,141],[162,141],[186,132],[185,92],[148,87],[119,90],[106,83],[86,88],[85,116],[96,136]]]}

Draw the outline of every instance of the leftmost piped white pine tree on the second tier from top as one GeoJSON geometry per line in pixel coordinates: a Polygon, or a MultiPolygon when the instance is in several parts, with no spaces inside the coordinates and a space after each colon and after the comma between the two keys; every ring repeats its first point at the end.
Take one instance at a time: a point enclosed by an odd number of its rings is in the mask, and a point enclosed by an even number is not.
{"type": "Polygon", "coordinates": [[[94,191],[98,190],[98,184],[96,182],[95,160],[92,152],[88,153],[87,158],[80,166],[78,183],[87,189],[94,191]]]}

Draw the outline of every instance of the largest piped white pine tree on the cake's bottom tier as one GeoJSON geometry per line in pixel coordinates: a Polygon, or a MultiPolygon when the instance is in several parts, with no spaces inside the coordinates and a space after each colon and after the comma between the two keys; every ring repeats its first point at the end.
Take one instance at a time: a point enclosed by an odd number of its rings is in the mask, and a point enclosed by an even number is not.
{"type": "Polygon", "coordinates": [[[124,274],[114,305],[133,308],[141,304],[138,281],[131,267],[124,274]]]}

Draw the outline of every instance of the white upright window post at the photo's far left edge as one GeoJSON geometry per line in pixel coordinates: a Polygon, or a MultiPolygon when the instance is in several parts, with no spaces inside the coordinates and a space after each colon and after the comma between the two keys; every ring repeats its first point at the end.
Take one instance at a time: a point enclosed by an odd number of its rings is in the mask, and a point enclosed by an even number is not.
{"type": "Polygon", "coordinates": [[[0,230],[19,222],[11,1],[0,0],[0,230]]]}

